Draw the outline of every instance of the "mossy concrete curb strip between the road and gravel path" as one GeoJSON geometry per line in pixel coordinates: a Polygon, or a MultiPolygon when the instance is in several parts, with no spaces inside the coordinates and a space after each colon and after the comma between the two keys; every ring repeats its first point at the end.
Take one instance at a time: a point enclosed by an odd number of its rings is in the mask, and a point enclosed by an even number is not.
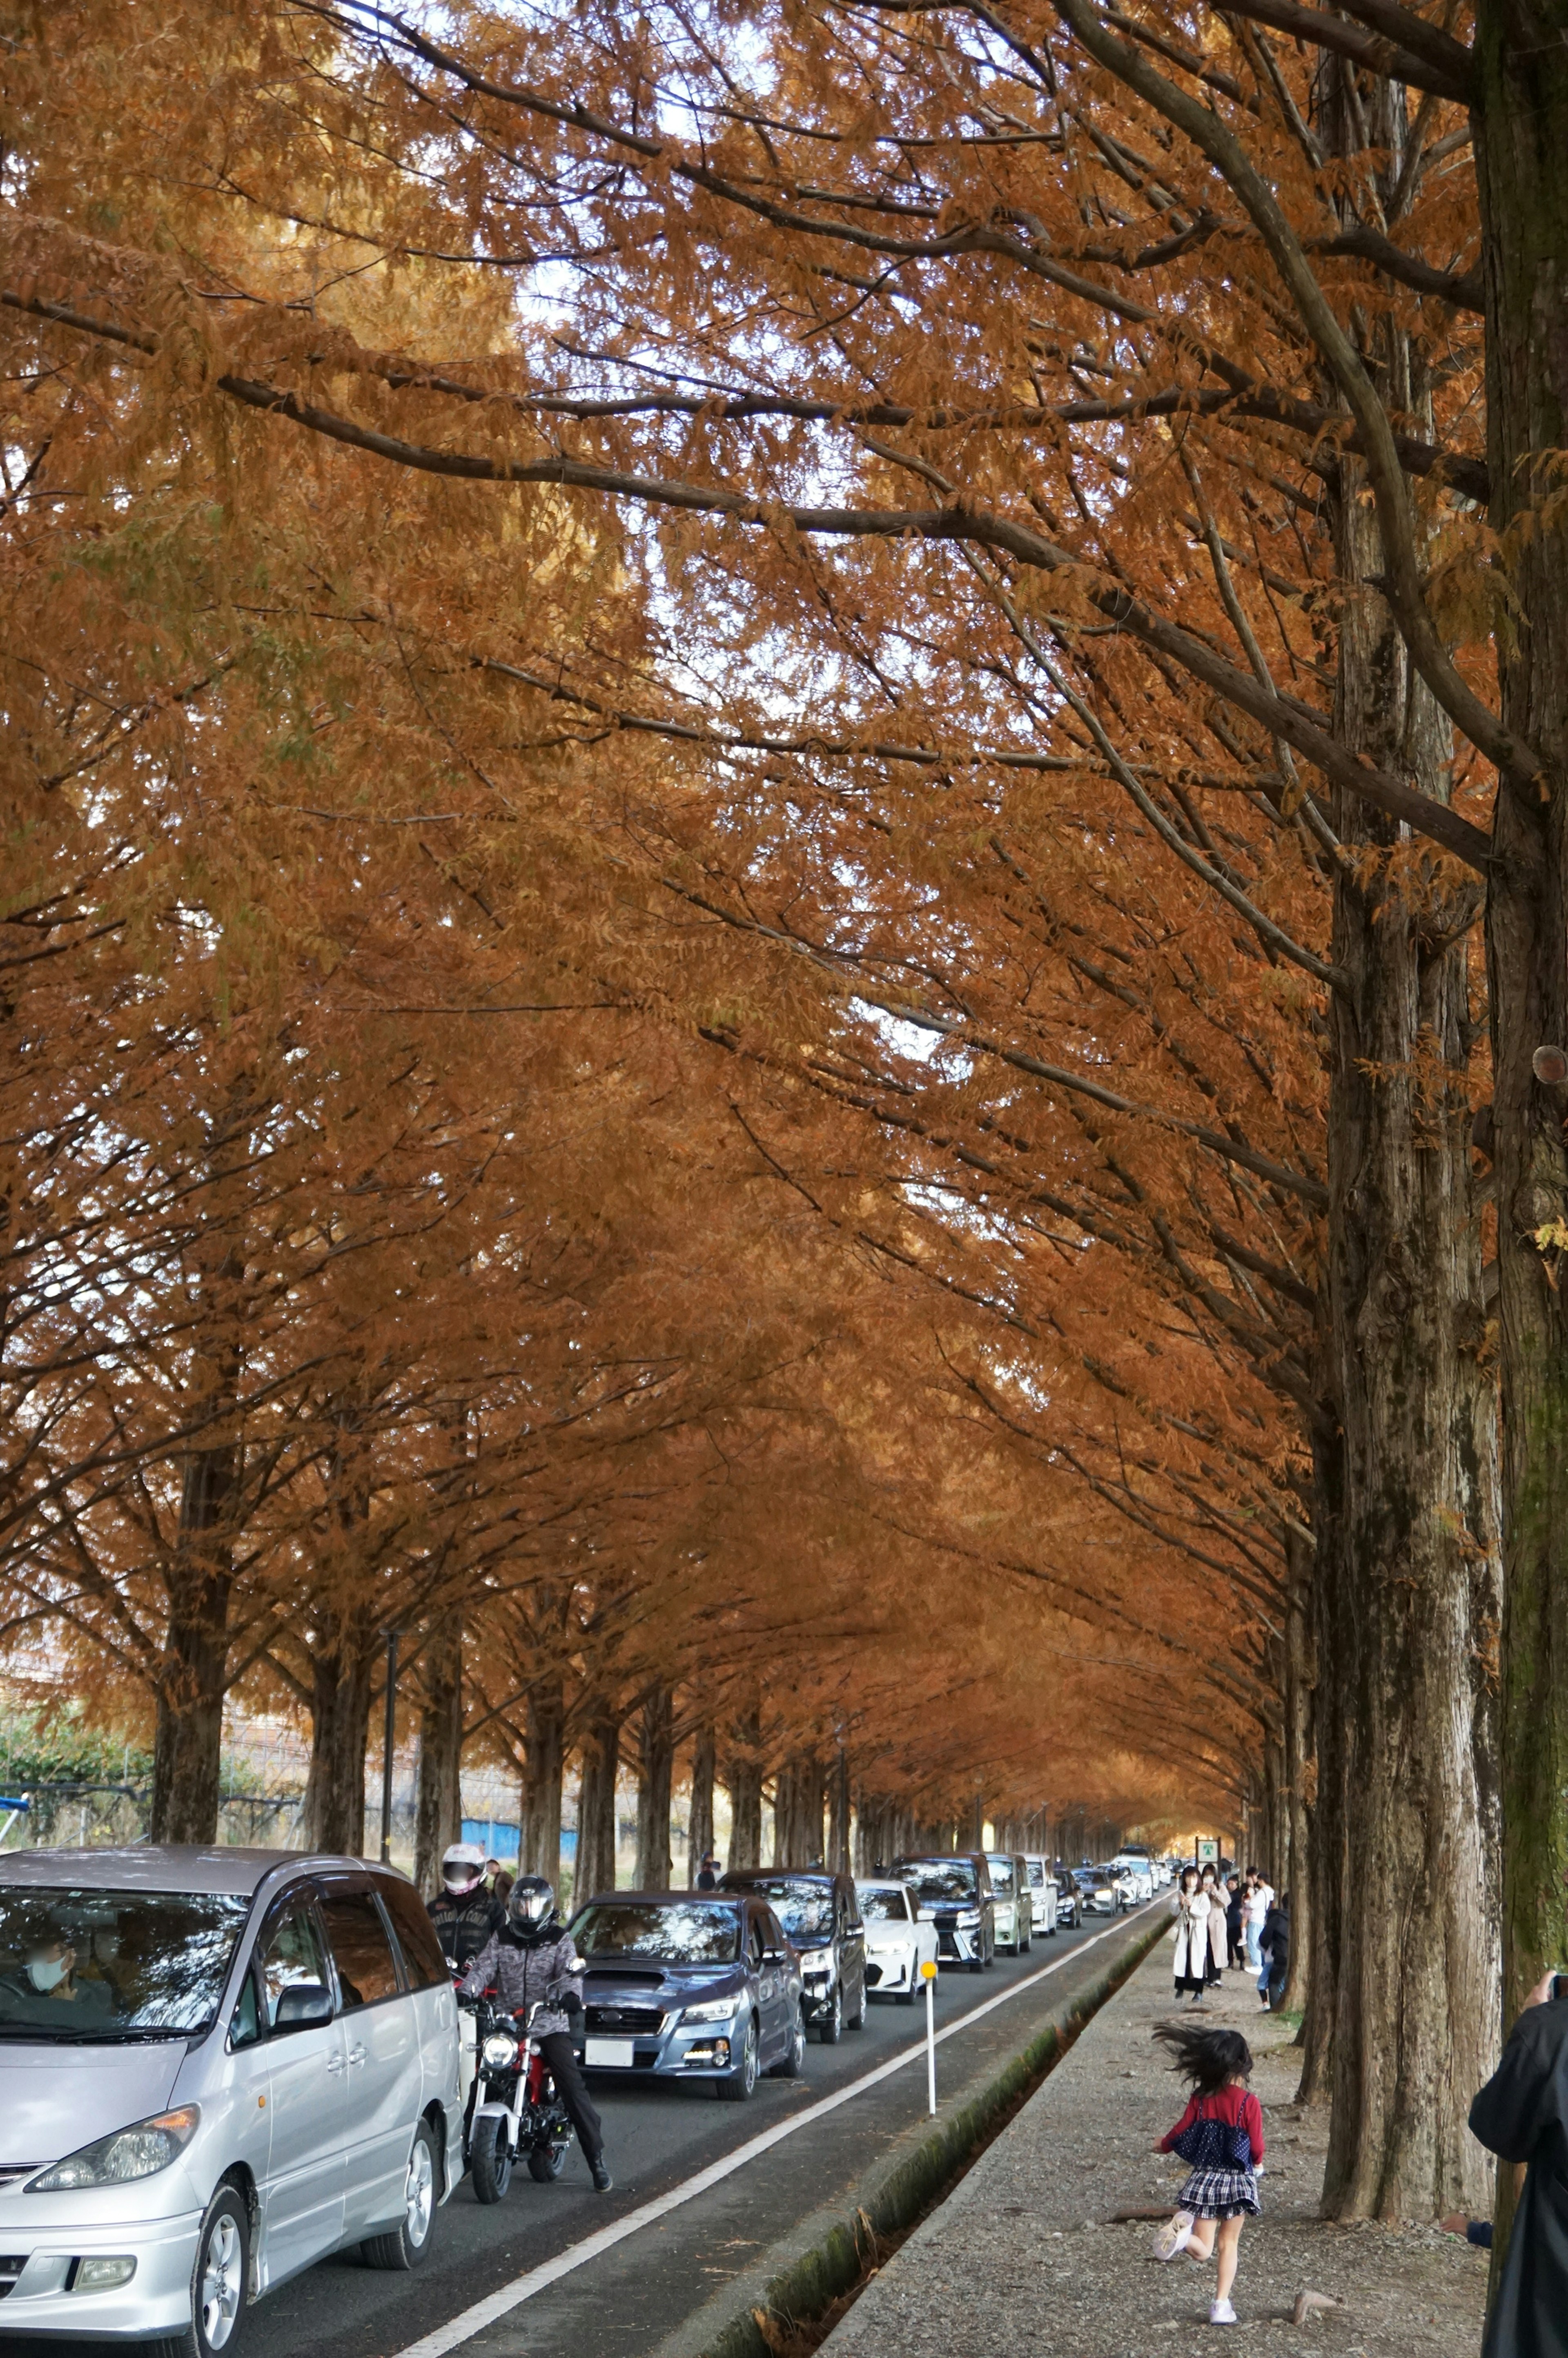
{"type": "Polygon", "coordinates": [[[816,2318],[830,2301],[858,2280],[870,2233],[896,2235],[908,2228],[957,2176],[995,2120],[1035,2080],[1045,2080],[1068,2051],[1082,2026],[1139,1969],[1144,1957],[1170,1936],[1170,1917],[1160,1910],[1087,1990],[1063,2002],[1000,2070],[971,2082],[950,2113],[934,2125],[922,2122],[894,2141],[882,2162],[865,2176],[858,2202],[844,2214],[842,2202],[802,2219],[788,2242],[750,2275],[736,2278],[689,2325],[660,2344],[655,2358],[771,2358],[755,2311],[792,2325],[816,2318]],[[780,2266],[783,2259],[783,2266],[780,2266]],[[724,2306],[714,2318],[712,2308],[724,2306]]]}

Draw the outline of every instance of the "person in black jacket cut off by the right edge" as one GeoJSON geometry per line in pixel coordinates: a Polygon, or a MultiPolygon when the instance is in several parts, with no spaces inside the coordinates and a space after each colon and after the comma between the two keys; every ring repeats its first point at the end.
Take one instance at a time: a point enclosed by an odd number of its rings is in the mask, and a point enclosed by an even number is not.
{"type": "Polygon", "coordinates": [[[1502,2162],[1528,2162],[1481,2358],[1568,2358],[1568,1997],[1535,1983],[1469,2108],[1502,2162]]]}

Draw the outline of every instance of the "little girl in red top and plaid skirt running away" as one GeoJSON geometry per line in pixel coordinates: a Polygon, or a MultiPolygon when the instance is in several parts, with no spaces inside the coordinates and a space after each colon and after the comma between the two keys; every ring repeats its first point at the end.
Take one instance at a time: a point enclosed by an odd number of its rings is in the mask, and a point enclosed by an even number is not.
{"type": "Polygon", "coordinates": [[[1264,2158],[1264,2110],[1247,2087],[1252,2049],[1240,2030],[1198,2030],[1191,2023],[1160,2023],[1155,2037],[1170,2047],[1172,2068],[1191,2087],[1186,2113],[1155,2146],[1155,2153],[1179,2153],[1188,2176],[1177,2195],[1177,2217],[1160,2228],[1155,2259],[1219,2261],[1210,2325],[1236,2325],[1231,2287],[1240,2254],[1240,2224],[1257,2219],[1257,2165],[1264,2158]]]}

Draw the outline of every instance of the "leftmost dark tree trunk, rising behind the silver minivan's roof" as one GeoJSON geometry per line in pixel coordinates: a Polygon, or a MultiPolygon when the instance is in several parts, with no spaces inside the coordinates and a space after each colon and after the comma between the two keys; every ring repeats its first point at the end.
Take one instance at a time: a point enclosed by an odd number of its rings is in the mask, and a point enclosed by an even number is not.
{"type": "Polygon", "coordinates": [[[217,1842],[238,1488],[238,1443],[186,1457],[158,1674],[153,1842],[217,1842]]]}

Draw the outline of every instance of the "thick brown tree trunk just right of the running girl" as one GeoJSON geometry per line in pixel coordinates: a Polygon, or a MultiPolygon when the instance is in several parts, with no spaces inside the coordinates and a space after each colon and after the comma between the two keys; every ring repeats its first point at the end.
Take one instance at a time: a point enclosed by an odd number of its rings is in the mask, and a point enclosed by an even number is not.
{"type": "MultiPolygon", "coordinates": [[[[1398,340],[1389,375],[1417,406],[1398,340]]],[[[1450,736],[1370,587],[1382,547],[1349,457],[1335,523],[1351,585],[1337,736],[1445,795],[1450,736]]],[[[1424,2219],[1485,2198],[1467,2110],[1497,2016],[1483,1905],[1497,1445],[1469,1158],[1469,908],[1346,792],[1335,828],[1351,856],[1335,875],[1344,988],[1330,993],[1327,1330],[1344,1445],[1318,1629],[1318,1806],[1332,1768],[1339,1837],[1323,2209],[1424,2219]]]]}

